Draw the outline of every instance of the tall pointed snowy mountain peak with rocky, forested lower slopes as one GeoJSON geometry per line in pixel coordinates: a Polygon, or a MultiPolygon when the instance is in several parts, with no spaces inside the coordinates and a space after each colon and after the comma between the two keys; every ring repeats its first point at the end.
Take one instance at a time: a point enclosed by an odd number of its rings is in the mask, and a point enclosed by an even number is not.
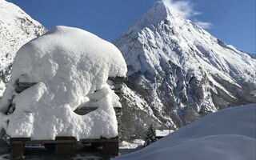
{"type": "Polygon", "coordinates": [[[150,123],[176,129],[222,108],[256,102],[256,60],[162,2],[114,44],[128,67],[123,129],[141,128],[132,134],[142,136],[150,123]]]}

